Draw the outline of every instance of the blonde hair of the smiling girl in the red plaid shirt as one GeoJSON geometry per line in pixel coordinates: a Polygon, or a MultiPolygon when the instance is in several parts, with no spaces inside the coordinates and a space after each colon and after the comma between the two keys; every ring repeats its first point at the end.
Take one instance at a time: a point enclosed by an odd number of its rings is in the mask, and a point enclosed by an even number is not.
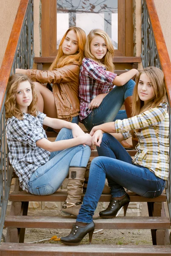
{"type": "Polygon", "coordinates": [[[101,59],[101,63],[100,65],[106,67],[106,70],[110,71],[110,72],[114,72],[115,70],[115,66],[113,64],[113,56],[114,56],[114,48],[113,48],[113,44],[110,40],[110,37],[107,35],[106,32],[104,32],[101,29],[93,29],[90,31],[90,33],[87,35],[87,40],[86,40],[86,44],[85,44],[85,48],[84,48],[84,56],[87,58],[90,58],[94,61],[96,61],[97,63],[99,63],[99,60],[97,60],[90,51],[90,44],[91,41],[93,40],[93,38],[95,38],[95,36],[101,36],[102,38],[104,38],[105,42],[106,42],[106,46],[107,46],[107,52],[104,55],[104,57],[101,59]]]}

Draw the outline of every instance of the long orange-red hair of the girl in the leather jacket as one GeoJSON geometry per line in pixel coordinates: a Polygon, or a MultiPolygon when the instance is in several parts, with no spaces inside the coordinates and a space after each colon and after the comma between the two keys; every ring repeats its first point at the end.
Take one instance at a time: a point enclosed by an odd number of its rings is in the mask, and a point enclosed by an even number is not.
{"type": "Polygon", "coordinates": [[[64,67],[65,65],[74,63],[81,65],[82,59],[84,57],[84,46],[86,42],[86,33],[83,29],[78,27],[70,27],[65,35],[63,36],[58,49],[58,54],[55,58],[55,60],[52,62],[52,65],[49,67],[49,70],[54,70],[55,68],[64,67]],[[78,38],[78,51],[75,54],[72,55],[64,55],[64,52],[62,50],[62,44],[67,36],[67,33],[69,31],[73,30],[78,38]]]}

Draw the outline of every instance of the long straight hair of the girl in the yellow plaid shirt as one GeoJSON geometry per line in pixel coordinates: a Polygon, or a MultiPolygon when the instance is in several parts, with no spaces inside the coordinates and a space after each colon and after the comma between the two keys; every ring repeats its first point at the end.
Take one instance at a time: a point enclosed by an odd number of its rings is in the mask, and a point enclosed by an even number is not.
{"type": "Polygon", "coordinates": [[[140,113],[150,108],[156,108],[160,105],[161,102],[166,101],[166,87],[162,70],[157,67],[146,67],[145,69],[139,71],[139,74],[136,77],[136,84],[133,91],[132,116],[139,115],[140,113]],[[141,74],[146,74],[148,76],[154,91],[154,98],[145,105],[144,101],[142,101],[138,96],[138,84],[141,74]]]}

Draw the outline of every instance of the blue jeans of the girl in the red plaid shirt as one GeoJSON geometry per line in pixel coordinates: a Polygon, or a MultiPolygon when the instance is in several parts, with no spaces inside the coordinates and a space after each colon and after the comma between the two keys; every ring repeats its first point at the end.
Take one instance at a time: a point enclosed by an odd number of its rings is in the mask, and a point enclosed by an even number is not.
{"type": "Polygon", "coordinates": [[[82,120],[88,131],[96,125],[101,125],[105,122],[112,122],[116,119],[123,120],[127,118],[125,110],[120,110],[125,99],[133,94],[135,82],[130,79],[123,86],[114,87],[103,99],[99,108],[94,108],[93,111],[82,120]]]}

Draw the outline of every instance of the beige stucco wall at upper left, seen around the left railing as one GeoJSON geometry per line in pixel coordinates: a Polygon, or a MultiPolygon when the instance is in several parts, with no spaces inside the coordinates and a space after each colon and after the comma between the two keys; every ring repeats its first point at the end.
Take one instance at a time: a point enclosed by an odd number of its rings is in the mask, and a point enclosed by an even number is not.
{"type": "MultiPolygon", "coordinates": [[[[41,39],[40,39],[40,2],[34,1],[34,45],[35,56],[40,56],[41,39]]],[[[20,0],[0,0],[0,66],[9,41],[12,26],[17,14],[20,0]]]]}

